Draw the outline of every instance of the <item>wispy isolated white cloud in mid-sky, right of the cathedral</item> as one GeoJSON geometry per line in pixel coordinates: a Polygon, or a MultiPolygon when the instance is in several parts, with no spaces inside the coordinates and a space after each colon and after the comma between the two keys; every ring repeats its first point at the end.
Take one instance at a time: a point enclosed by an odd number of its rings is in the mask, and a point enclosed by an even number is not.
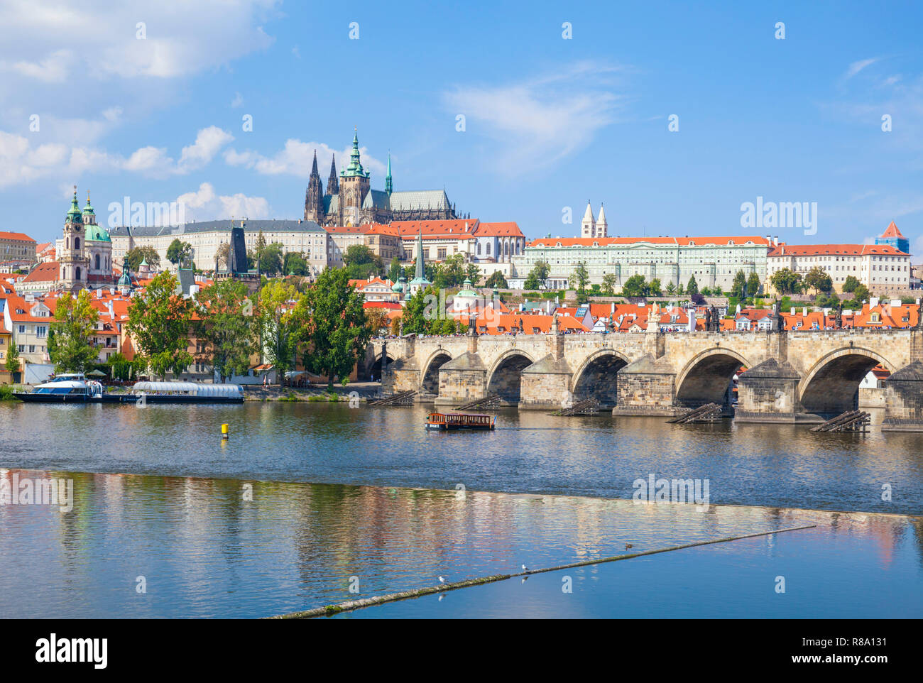
{"type": "Polygon", "coordinates": [[[493,138],[488,155],[502,174],[548,166],[585,148],[615,121],[624,96],[612,91],[621,67],[582,62],[522,83],[459,86],[444,93],[450,114],[464,114],[463,135],[493,138]]]}

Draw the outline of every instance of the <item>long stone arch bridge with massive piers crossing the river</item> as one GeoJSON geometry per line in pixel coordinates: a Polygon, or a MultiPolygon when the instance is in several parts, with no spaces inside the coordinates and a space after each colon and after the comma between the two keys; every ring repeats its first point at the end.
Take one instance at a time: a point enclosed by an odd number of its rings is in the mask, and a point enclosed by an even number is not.
{"type": "Polygon", "coordinates": [[[744,367],[734,413],[749,422],[819,422],[854,410],[859,382],[878,364],[893,373],[884,428],[923,430],[921,329],[410,335],[366,350],[386,393],[414,389],[446,406],[496,393],[520,410],[595,398],[617,414],[673,415],[708,402],[730,412],[744,367]]]}

